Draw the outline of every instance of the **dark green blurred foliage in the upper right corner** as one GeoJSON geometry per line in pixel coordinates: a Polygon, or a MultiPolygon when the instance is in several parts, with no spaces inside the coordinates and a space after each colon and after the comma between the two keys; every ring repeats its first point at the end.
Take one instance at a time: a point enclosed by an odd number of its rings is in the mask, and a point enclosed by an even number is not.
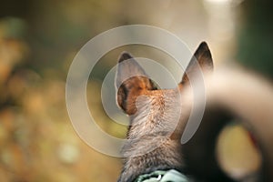
{"type": "Polygon", "coordinates": [[[238,35],[238,60],[273,78],[273,2],[246,0],[244,22],[238,35]]]}

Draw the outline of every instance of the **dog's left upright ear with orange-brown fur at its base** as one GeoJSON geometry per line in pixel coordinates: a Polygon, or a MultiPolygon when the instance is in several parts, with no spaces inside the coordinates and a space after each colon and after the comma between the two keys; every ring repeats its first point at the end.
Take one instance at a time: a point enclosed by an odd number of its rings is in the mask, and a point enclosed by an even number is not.
{"type": "Polygon", "coordinates": [[[157,87],[148,78],[144,69],[130,54],[124,52],[118,58],[116,71],[116,101],[128,115],[136,113],[136,97],[157,87]]]}

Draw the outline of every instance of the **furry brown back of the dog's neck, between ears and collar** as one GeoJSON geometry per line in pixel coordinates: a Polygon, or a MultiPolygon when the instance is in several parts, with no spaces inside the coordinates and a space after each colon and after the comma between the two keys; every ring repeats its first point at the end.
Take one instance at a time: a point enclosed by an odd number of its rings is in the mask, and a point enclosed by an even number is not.
{"type": "Polygon", "coordinates": [[[141,174],[158,169],[181,171],[184,167],[180,140],[170,137],[180,118],[178,90],[152,92],[137,98],[137,112],[130,116],[119,181],[133,181],[141,174]]]}

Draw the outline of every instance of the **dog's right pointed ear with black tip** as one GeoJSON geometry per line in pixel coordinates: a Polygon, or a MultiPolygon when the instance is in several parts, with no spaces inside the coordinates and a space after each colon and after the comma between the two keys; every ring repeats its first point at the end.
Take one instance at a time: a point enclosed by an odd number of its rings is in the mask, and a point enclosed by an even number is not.
{"type": "Polygon", "coordinates": [[[197,64],[200,66],[203,72],[213,70],[213,61],[206,42],[202,42],[198,46],[194,56],[192,56],[186,72],[182,77],[182,85],[189,83],[188,76],[190,77],[195,75],[198,70],[197,64]]]}

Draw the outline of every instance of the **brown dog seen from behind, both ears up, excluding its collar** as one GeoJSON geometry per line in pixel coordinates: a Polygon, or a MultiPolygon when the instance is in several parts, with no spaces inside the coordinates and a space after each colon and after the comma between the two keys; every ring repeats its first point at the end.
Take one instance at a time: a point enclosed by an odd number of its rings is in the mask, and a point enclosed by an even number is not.
{"type": "MultiPolygon", "coordinates": [[[[177,126],[179,96],[189,86],[187,75],[182,77],[176,89],[158,90],[133,56],[123,53],[118,59],[116,72],[117,104],[130,116],[127,142],[123,148],[124,167],[118,181],[131,182],[153,171],[175,169],[183,172],[182,145],[179,136],[183,126],[177,126]],[[129,61],[126,61],[129,60],[129,61]],[[130,77],[132,76],[132,77],[130,77]],[[147,152],[145,152],[147,151],[147,152]]],[[[187,73],[195,74],[197,63],[205,71],[212,71],[213,61],[207,43],[201,43],[187,67],[187,73]],[[197,62],[194,60],[197,59],[197,62]]],[[[187,116],[183,116],[185,119],[187,116]]],[[[179,122],[181,123],[181,122],[179,122]]]]}

